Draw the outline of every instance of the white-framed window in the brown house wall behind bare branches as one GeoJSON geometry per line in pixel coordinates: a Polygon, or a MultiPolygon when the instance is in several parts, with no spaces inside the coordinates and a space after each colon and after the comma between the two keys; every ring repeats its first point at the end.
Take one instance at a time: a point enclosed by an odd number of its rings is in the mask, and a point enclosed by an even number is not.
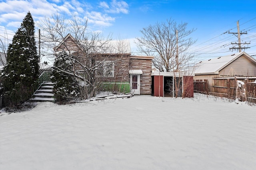
{"type": "Polygon", "coordinates": [[[114,77],[114,63],[112,61],[97,61],[99,66],[97,71],[98,76],[102,77],[114,77]]]}

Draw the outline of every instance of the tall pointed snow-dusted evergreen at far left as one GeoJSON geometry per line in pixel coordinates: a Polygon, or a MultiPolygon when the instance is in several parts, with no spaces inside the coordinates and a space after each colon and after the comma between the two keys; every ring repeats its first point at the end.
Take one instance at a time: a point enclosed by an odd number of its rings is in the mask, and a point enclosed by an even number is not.
{"type": "Polygon", "coordinates": [[[6,106],[18,106],[34,92],[39,74],[39,56],[34,37],[34,20],[28,12],[7,51],[1,78],[6,106]]]}

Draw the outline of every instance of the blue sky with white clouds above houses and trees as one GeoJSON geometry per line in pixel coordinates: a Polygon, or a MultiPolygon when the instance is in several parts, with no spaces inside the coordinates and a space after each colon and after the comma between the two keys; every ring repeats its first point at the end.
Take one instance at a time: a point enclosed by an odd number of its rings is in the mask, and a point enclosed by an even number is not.
{"type": "Polygon", "coordinates": [[[247,31],[241,35],[242,43],[251,43],[245,51],[256,58],[255,9],[256,0],[0,0],[0,38],[4,40],[6,29],[11,40],[28,11],[35,22],[58,11],[67,18],[74,13],[88,18],[90,29],[104,35],[112,33],[113,39],[129,39],[135,53],[133,42],[141,36],[143,27],[172,18],[188,23],[188,29],[196,29],[190,37],[197,42],[190,52],[203,60],[237,52],[229,48],[238,38],[223,33],[237,32],[239,20],[240,31],[247,31]]]}

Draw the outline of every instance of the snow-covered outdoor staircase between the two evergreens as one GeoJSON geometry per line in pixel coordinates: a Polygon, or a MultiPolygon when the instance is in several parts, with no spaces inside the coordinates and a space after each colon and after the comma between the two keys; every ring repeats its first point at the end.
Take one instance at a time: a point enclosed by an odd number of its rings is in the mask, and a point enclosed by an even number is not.
{"type": "Polygon", "coordinates": [[[43,82],[38,90],[33,94],[29,102],[53,102],[56,103],[56,99],[53,94],[53,82],[43,82]]]}

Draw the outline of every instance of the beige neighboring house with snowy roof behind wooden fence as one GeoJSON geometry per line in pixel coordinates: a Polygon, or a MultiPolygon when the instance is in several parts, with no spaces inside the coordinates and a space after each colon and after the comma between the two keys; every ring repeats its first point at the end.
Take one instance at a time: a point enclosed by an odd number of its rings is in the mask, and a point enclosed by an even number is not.
{"type": "Polygon", "coordinates": [[[208,80],[212,92],[212,78],[256,76],[256,60],[245,52],[200,61],[196,64],[194,80],[208,80]]]}

